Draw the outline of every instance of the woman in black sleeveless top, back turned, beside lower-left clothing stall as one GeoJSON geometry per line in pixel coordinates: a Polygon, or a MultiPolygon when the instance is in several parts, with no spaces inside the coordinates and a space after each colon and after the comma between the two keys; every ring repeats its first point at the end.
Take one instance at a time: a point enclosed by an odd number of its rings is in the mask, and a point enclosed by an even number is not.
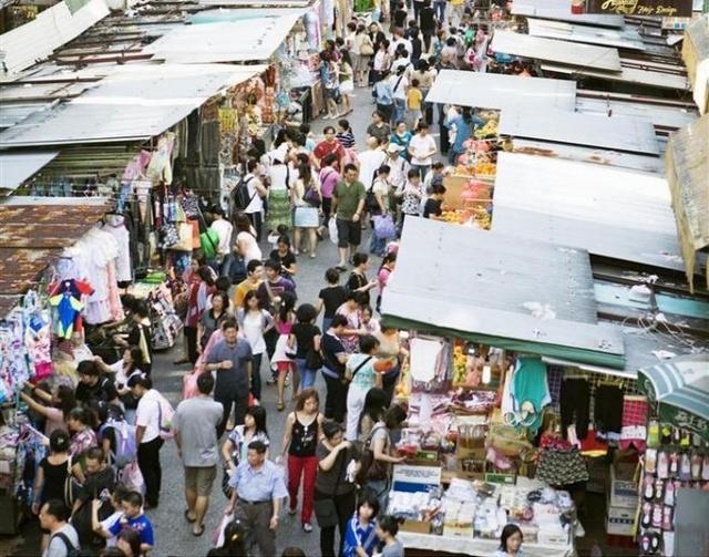
{"type": "MultiPolygon", "coordinates": [[[[50,499],[64,501],[64,485],[69,476],[69,433],[54,430],[49,437],[49,455],[42,458],[34,478],[34,503],[32,512],[39,514],[42,505],[50,499]]],[[[42,550],[49,544],[49,532],[43,532],[42,550]]]]}

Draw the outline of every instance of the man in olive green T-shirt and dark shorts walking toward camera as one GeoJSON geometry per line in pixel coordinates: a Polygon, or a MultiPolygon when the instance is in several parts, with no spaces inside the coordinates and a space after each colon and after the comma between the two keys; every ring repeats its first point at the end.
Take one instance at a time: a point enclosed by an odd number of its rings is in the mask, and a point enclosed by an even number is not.
{"type": "Polygon", "coordinates": [[[343,179],[332,192],[332,213],[337,223],[337,247],[340,254],[339,270],[347,270],[350,252],[357,251],[362,241],[360,218],[364,210],[364,185],[357,179],[357,166],[345,166],[343,179]]]}

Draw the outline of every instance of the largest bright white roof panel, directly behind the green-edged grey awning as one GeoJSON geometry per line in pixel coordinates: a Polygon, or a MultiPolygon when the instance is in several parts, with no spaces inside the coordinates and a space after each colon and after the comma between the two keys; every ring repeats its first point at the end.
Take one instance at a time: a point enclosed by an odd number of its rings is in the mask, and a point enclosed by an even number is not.
{"type": "Polygon", "coordinates": [[[501,153],[494,204],[495,231],[682,269],[669,188],[659,176],[501,153]]]}

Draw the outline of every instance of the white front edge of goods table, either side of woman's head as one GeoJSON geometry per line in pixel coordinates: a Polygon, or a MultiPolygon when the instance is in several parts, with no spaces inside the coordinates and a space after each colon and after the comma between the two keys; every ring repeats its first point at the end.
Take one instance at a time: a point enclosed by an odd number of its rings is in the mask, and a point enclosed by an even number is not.
{"type": "MultiPolygon", "coordinates": [[[[425,549],[465,555],[493,555],[500,548],[497,539],[480,539],[466,537],[435,536],[433,534],[397,534],[407,549],[425,549]]],[[[549,546],[541,544],[522,544],[525,557],[575,557],[574,546],[549,546]]]]}

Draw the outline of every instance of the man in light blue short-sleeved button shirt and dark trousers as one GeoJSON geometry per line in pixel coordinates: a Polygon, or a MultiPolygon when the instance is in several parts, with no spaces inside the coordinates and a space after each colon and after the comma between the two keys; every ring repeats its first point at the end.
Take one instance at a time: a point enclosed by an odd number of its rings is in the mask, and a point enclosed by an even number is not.
{"type": "Polygon", "coordinates": [[[276,529],[282,499],[288,495],[280,468],[266,460],[266,445],[251,441],[246,462],[229,478],[232,501],[225,514],[237,516],[254,533],[261,555],[276,555],[276,529]]]}

